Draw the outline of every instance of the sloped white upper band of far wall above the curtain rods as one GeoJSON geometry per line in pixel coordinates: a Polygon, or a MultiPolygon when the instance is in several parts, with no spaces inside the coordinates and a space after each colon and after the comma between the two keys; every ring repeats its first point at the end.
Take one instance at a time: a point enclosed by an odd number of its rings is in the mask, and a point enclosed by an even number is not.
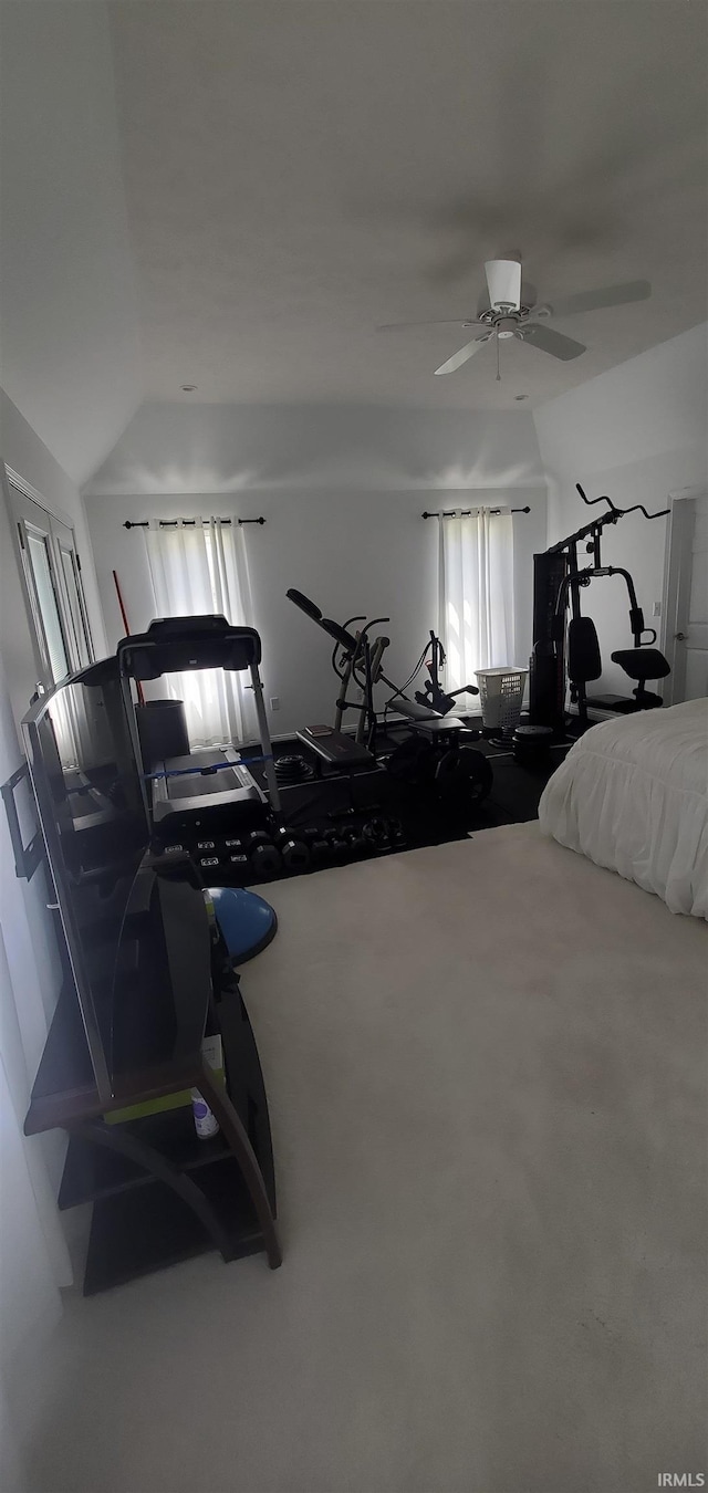
{"type": "Polygon", "coordinates": [[[91,496],[348,487],[539,487],[526,411],[357,405],[142,405],[85,484],[91,496]]]}

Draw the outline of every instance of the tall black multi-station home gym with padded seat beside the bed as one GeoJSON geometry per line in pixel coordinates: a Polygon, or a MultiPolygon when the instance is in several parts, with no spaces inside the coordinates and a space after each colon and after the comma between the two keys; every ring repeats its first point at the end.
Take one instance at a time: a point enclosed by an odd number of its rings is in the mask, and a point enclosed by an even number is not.
{"type": "MultiPolygon", "coordinates": [[[[533,652],[530,658],[530,714],[527,727],[517,729],[517,736],[527,733],[550,733],[556,739],[565,736],[566,730],[566,676],[571,687],[571,703],[577,706],[578,724],[581,730],[589,726],[589,705],[596,705],[605,711],[629,714],[647,711],[662,705],[659,694],[647,690],[647,679],[662,679],[669,673],[669,664],[663,654],[651,646],[656,643],[656,630],[645,627],[644,614],[636,599],[635,582],[623,566],[603,566],[600,557],[600,536],[608,524],[617,524],[627,514],[641,512],[644,518],[665,518],[668,508],[657,514],[648,514],[644,503],[633,503],[632,508],[617,508],[612,499],[586,497],[580,482],[577,484],[583,502],[593,508],[596,503],[608,503],[608,511],[597,514],[566,539],[560,539],[544,554],[533,555],[533,652]],[[584,542],[590,564],[578,564],[578,545],[584,542]],[[633,697],[602,696],[589,699],[587,684],[599,679],[602,673],[602,658],[597,632],[590,617],[583,617],[580,594],[581,588],[590,585],[599,576],[618,575],[623,578],[629,594],[629,626],[633,646],[618,649],[611,654],[612,663],[620,664],[630,679],[636,681],[633,697]],[[568,618],[568,611],[571,617],[568,618]],[[648,638],[645,636],[648,633],[648,638]]],[[[529,739],[530,745],[530,739],[529,739]]]]}

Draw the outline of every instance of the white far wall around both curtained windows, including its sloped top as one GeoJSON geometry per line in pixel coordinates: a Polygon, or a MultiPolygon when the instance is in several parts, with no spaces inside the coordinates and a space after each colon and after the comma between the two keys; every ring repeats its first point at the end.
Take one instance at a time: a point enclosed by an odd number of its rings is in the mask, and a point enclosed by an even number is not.
{"type": "Polygon", "coordinates": [[[266,694],[281,700],[276,735],[332,720],[336,682],[327,639],[285,599],[288,587],[336,618],[388,615],[387,673],[411,672],[438,626],[438,526],[424,509],[529,503],[514,518],[517,658],[529,655],[545,488],[527,414],[146,406],[85,502],[111,646],[122,635],[114,569],[131,630],[154,615],[143,539],[127,518],[263,514],[246,543],[266,694]]]}

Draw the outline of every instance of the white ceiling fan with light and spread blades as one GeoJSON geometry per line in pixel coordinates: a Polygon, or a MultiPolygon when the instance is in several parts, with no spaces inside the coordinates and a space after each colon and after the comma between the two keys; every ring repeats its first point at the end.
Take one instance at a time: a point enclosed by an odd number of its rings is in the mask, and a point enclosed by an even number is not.
{"type": "MultiPolygon", "coordinates": [[[[551,358],[569,363],[586,352],[583,342],[566,337],[563,331],[556,331],[547,325],[550,317],[575,317],[581,311],[600,311],[605,306],[627,306],[632,300],[647,300],[651,296],[648,281],[630,281],[626,285],[608,285],[605,290],[586,290],[577,296],[562,296],[559,300],[545,302],[541,306],[529,306],[521,302],[521,264],[518,260],[487,260],[484,266],[488,290],[488,308],[482,305],[476,317],[453,317],[447,321],[393,321],[378,331],[402,331],[406,327],[479,327],[481,336],[472,337],[463,348],[453,352],[453,357],[441,363],[436,373],[454,373],[456,369],[473,358],[475,352],[484,348],[485,342],[496,342],[499,360],[499,342],[517,337],[527,342],[541,352],[550,352],[551,358]]],[[[499,363],[497,375],[499,378],[499,363]]]]}

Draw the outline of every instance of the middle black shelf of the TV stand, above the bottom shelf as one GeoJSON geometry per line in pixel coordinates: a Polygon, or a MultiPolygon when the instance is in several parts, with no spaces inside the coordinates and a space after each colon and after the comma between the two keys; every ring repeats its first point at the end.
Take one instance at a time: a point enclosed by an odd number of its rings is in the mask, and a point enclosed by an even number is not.
{"type": "MultiPolygon", "coordinates": [[[[118,1129],[118,1126],[111,1127],[118,1129]]],[[[164,1114],[148,1115],[119,1126],[143,1145],[152,1147],[172,1166],[182,1172],[211,1166],[229,1156],[224,1136],[200,1141],[191,1117],[191,1106],[169,1109],[164,1114]]],[[[58,1194],[61,1209],[79,1203],[112,1197],[128,1187],[143,1187],[154,1178],[136,1162],[117,1151],[109,1151],[81,1135],[72,1135],[64,1162],[64,1175],[58,1194]]]]}

